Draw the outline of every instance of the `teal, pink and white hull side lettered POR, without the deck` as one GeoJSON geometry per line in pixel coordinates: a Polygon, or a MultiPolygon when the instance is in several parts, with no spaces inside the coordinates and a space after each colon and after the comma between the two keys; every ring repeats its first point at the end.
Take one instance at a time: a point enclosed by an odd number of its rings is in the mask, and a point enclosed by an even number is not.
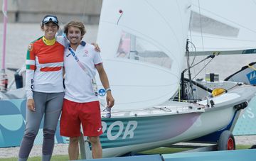
{"type": "Polygon", "coordinates": [[[223,106],[198,113],[102,119],[103,125],[107,125],[100,137],[103,156],[119,156],[193,140],[225,128],[235,114],[233,106],[223,106]]]}

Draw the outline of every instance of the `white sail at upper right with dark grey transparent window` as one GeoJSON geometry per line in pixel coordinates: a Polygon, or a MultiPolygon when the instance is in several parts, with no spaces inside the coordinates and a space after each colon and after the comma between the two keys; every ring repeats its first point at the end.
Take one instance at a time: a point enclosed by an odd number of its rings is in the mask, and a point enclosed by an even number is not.
{"type": "Polygon", "coordinates": [[[193,0],[188,37],[196,51],[256,53],[255,8],[255,0],[193,0]]]}

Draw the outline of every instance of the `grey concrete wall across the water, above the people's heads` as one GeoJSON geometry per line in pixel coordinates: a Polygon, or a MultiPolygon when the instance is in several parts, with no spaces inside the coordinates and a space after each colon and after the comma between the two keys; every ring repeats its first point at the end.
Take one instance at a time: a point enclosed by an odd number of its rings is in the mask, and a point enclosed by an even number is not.
{"type": "MultiPolygon", "coordinates": [[[[3,5],[4,0],[0,0],[3,5]]],[[[87,24],[100,20],[102,0],[7,0],[9,23],[40,23],[46,14],[54,14],[60,23],[79,19],[87,24]]],[[[2,7],[0,22],[3,21],[2,7]]]]}

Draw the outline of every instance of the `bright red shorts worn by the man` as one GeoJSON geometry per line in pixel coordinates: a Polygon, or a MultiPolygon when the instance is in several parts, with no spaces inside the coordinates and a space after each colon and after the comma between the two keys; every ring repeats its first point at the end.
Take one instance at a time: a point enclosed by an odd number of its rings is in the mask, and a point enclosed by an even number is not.
{"type": "Polygon", "coordinates": [[[102,134],[99,101],[77,103],[64,99],[60,117],[60,135],[80,136],[81,123],[85,136],[99,136],[102,134]]]}

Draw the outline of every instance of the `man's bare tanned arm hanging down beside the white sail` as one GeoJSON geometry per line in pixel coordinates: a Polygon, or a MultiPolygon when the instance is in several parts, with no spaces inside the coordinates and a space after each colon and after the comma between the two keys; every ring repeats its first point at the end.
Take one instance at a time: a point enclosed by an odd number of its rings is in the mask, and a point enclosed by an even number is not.
{"type": "MultiPolygon", "coordinates": [[[[110,84],[109,84],[109,81],[108,81],[108,78],[107,78],[107,73],[105,72],[105,70],[103,68],[103,65],[100,64],[100,65],[96,65],[95,67],[96,67],[97,71],[99,72],[100,81],[102,82],[103,87],[105,89],[109,89],[110,84]]],[[[106,101],[107,101],[107,106],[108,107],[111,108],[112,106],[114,106],[114,98],[111,94],[111,90],[107,91],[106,101]]]]}

